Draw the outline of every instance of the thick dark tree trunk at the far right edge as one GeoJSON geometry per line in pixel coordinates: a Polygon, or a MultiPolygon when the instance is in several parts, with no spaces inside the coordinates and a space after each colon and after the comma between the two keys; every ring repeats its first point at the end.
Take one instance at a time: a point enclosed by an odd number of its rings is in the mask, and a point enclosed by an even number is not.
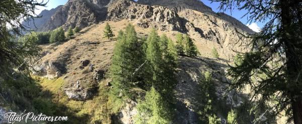
{"type": "Polygon", "coordinates": [[[293,119],[295,124],[302,124],[302,94],[301,94],[301,75],[302,70],[301,58],[299,58],[300,38],[295,35],[294,23],[295,12],[293,10],[293,0],[280,0],[281,5],[281,23],[282,23],[282,37],[281,42],[285,45],[286,54],[286,74],[287,74],[287,88],[291,95],[291,106],[293,119]]]}

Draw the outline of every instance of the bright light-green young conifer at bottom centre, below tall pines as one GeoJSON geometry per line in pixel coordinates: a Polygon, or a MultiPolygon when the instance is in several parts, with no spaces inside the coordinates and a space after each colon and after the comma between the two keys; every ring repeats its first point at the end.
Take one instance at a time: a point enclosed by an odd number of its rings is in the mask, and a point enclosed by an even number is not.
{"type": "Polygon", "coordinates": [[[135,116],[135,123],[172,122],[172,116],[166,101],[154,87],[146,92],[145,100],[139,101],[136,108],[138,112],[135,116]]]}

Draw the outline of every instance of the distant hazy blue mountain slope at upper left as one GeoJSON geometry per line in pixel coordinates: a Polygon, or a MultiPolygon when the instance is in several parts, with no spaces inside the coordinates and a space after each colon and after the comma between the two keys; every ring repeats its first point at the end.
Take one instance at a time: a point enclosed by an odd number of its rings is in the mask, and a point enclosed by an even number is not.
{"type": "Polygon", "coordinates": [[[39,31],[45,25],[45,23],[51,19],[51,16],[62,6],[63,5],[59,5],[50,10],[44,9],[40,14],[38,14],[38,16],[40,17],[23,21],[22,24],[25,25],[27,29],[34,29],[39,31]]]}

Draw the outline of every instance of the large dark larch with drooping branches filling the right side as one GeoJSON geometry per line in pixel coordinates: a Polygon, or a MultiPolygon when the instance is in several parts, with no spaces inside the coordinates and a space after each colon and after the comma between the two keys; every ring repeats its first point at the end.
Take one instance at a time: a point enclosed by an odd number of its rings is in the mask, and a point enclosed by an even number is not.
{"type": "Polygon", "coordinates": [[[228,74],[234,77],[231,88],[249,85],[256,107],[262,102],[274,115],[285,110],[294,123],[302,123],[302,1],[212,1],[220,2],[221,10],[247,10],[250,22],[265,22],[259,33],[239,33],[253,38],[253,47],[241,65],[230,68],[228,74]]]}

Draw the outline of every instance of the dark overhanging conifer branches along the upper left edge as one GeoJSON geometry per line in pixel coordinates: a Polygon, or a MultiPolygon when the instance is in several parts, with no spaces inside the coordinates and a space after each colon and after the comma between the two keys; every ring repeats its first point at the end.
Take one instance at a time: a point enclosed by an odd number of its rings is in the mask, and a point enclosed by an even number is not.
{"type": "Polygon", "coordinates": [[[35,61],[39,48],[36,42],[16,41],[16,35],[22,35],[25,29],[22,21],[36,17],[35,8],[45,6],[35,0],[1,0],[0,1],[0,74],[10,68],[19,68],[29,74],[30,63],[35,61]],[[26,59],[27,58],[27,59],[26,59]]]}

